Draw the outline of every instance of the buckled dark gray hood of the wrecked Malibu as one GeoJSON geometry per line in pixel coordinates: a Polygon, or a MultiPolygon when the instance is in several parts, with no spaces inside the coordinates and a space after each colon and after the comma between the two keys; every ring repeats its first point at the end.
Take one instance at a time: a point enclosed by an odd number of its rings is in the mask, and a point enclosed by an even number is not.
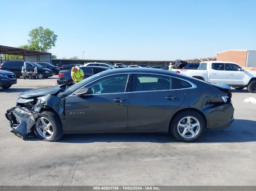
{"type": "Polygon", "coordinates": [[[24,93],[19,94],[19,97],[29,98],[29,97],[40,97],[47,94],[57,94],[60,91],[64,90],[65,88],[66,88],[66,84],[59,85],[59,86],[49,86],[45,88],[38,88],[38,89],[25,91],[24,93]]]}

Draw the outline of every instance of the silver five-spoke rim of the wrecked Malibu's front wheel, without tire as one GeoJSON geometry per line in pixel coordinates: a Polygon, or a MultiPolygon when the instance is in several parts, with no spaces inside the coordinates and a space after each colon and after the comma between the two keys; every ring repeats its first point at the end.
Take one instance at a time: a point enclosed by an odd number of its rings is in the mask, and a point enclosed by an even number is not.
{"type": "Polygon", "coordinates": [[[54,129],[52,123],[46,119],[45,117],[40,117],[37,119],[36,124],[36,131],[38,134],[43,138],[52,138],[54,134],[54,129]]]}

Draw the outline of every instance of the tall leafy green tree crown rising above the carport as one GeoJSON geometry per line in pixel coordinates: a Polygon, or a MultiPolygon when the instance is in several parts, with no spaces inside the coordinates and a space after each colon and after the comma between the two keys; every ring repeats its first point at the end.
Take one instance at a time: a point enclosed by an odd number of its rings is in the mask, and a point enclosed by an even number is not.
{"type": "Polygon", "coordinates": [[[34,47],[35,50],[47,52],[52,46],[55,46],[57,35],[50,29],[44,29],[43,27],[35,28],[29,31],[28,39],[29,45],[34,47]]]}

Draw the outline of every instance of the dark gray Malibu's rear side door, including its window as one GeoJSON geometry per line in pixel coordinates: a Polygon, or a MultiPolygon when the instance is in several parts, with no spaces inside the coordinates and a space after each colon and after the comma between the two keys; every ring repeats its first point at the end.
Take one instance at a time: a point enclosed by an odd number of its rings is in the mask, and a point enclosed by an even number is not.
{"type": "Polygon", "coordinates": [[[128,129],[161,129],[185,94],[176,78],[158,74],[133,74],[128,102],[128,129]]]}

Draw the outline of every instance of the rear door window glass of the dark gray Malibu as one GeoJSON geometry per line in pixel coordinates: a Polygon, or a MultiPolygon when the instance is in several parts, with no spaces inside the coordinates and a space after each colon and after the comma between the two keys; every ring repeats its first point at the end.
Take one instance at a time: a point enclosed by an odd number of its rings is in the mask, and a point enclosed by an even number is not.
{"type": "Polygon", "coordinates": [[[171,77],[153,74],[136,74],[135,91],[158,91],[171,89],[171,77]]]}

